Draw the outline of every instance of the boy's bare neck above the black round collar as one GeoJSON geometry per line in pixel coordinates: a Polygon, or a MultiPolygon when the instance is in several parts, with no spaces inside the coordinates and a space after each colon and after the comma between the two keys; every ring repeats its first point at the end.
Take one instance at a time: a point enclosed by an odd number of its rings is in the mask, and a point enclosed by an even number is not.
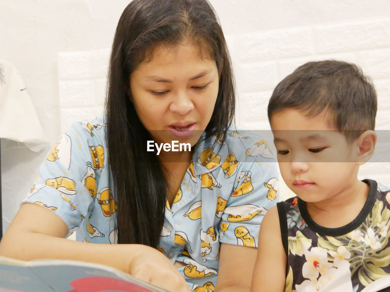
{"type": "Polygon", "coordinates": [[[317,224],[328,228],[341,227],[355,220],[365,204],[368,192],[369,186],[356,179],[332,198],[308,202],[306,208],[317,224]]]}

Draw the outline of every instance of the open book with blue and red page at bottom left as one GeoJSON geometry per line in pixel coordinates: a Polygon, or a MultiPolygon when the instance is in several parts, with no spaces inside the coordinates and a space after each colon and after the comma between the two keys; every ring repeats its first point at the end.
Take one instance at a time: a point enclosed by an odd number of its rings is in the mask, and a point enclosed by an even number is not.
{"type": "Polygon", "coordinates": [[[167,292],[118,269],[67,260],[0,257],[1,292],[167,292]]]}

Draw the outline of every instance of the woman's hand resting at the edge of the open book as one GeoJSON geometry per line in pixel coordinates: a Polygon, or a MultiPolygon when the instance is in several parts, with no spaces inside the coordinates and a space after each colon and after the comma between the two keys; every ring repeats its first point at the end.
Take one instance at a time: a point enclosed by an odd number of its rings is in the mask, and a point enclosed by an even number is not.
{"type": "Polygon", "coordinates": [[[191,291],[183,276],[165,255],[145,245],[137,245],[137,250],[137,255],[132,257],[129,264],[129,274],[168,291],[191,291]]]}

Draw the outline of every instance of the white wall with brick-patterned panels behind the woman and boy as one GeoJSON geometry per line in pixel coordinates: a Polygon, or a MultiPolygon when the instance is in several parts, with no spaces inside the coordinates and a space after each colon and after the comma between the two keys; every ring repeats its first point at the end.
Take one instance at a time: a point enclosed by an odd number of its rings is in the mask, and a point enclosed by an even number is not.
{"type": "MultiPolygon", "coordinates": [[[[50,0],[0,3],[0,11],[4,12],[0,18],[0,56],[19,69],[50,143],[73,121],[103,112],[108,51],[127,3],[128,0],[61,0],[56,5],[50,0]],[[69,11],[77,15],[68,19],[69,11]]],[[[388,0],[211,3],[221,19],[232,55],[239,126],[269,129],[266,106],[276,84],[307,61],[339,59],[362,66],[372,77],[378,91],[377,129],[389,129],[388,0]]],[[[359,177],[390,185],[389,157],[380,143],[378,155],[386,162],[363,166],[359,177]]],[[[13,149],[2,149],[2,153],[7,154],[2,156],[6,229],[18,208],[15,202],[23,198],[30,186],[17,170],[35,170],[37,162],[15,159],[13,149]],[[18,168],[12,167],[15,163],[20,164],[18,168]]],[[[282,197],[290,195],[284,184],[281,193],[282,197]]]]}

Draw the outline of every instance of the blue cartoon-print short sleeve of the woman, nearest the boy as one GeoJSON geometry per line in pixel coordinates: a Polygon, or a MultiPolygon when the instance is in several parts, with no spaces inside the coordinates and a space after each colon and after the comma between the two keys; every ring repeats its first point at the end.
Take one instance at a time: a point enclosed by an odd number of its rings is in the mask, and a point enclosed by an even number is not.
{"type": "Polygon", "coordinates": [[[261,221],[278,202],[277,162],[264,139],[248,139],[243,145],[245,158],[239,161],[239,171],[218,232],[221,243],[258,247],[261,221]],[[262,151],[256,153],[257,145],[262,151]],[[264,149],[268,155],[264,154],[264,149]]]}

